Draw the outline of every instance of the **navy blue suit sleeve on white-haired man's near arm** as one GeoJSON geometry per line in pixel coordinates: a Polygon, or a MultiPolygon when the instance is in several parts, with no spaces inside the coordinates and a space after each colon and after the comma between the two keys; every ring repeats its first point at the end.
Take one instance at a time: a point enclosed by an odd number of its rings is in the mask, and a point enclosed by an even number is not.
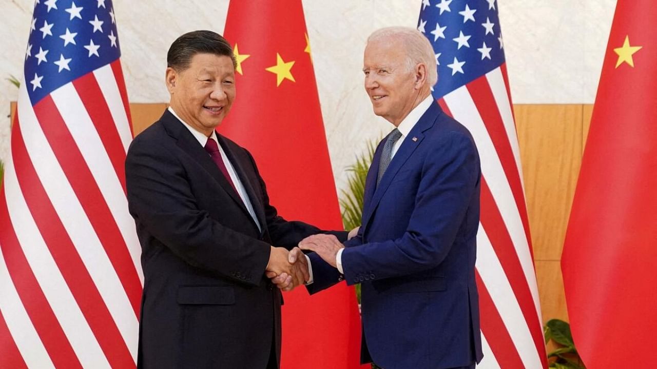
{"type": "MultiPolygon", "coordinates": [[[[401,238],[342,252],[348,284],[355,284],[357,276],[365,273],[371,280],[379,280],[425,271],[445,259],[472,196],[479,196],[480,164],[474,142],[463,133],[448,133],[435,146],[436,151],[422,164],[417,194],[409,199],[415,208],[401,238]]],[[[347,243],[350,246],[359,242],[356,238],[351,241],[347,243]]]]}

